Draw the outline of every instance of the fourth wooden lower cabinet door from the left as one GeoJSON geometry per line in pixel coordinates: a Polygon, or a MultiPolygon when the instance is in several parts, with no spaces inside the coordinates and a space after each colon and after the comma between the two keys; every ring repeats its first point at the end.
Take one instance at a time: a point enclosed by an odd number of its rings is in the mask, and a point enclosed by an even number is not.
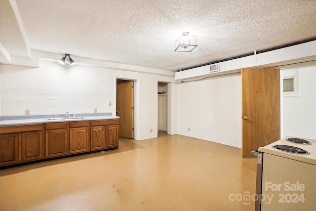
{"type": "Polygon", "coordinates": [[[69,153],[80,153],[89,151],[89,129],[88,127],[70,128],[69,153]]]}

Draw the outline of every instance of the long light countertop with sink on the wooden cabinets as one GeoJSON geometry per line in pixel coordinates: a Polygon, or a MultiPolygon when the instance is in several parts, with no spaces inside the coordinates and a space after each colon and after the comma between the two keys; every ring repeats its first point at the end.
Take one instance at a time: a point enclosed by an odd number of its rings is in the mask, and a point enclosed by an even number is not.
{"type": "Polygon", "coordinates": [[[111,119],[119,119],[119,117],[107,115],[107,116],[86,116],[86,117],[83,117],[83,119],[66,119],[66,120],[46,120],[46,118],[44,118],[44,119],[1,120],[0,126],[89,121],[89,120],[111,120],[111,119]]]}

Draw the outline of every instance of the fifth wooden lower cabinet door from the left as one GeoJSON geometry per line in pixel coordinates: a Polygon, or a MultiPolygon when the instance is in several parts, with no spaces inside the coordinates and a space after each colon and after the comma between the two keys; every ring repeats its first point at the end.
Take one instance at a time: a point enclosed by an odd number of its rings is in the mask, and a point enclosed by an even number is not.
{"type": "Polygon", "coordinates": [[[105,126],[95,126],[91,128],[91,150],[105,148],[105,126]]]}

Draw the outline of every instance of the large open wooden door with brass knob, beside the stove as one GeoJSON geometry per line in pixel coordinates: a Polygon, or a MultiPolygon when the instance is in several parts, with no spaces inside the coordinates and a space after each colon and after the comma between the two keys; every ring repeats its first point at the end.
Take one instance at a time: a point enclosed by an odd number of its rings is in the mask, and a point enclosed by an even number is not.
{"type": "Polygon", "coordinates": [[[280,139],[280,70],[241,69],[242,157],[280,139]]]}

